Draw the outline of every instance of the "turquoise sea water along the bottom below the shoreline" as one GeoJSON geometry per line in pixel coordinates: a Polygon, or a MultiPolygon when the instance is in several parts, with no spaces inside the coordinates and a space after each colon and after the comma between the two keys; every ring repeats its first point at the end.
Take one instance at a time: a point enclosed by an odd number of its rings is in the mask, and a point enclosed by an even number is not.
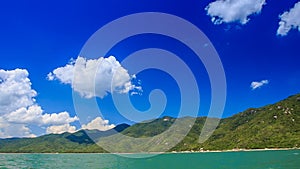
{"type": "Polygon", "coordinates": [[[175,153],[148,158],[114,154],[0,154],[0,168],[299,169],[300,150],[175,153]]]}

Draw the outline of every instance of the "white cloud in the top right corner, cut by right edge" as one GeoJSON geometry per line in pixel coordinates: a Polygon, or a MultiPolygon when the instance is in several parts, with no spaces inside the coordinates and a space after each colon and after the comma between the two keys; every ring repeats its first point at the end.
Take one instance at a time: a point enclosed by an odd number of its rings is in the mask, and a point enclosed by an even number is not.
{"type": "Polygon", "coordinates": [[[277,35],[285,36],[291,29],[297,29],[300,31],[300,1],[297,2],[293,8],[288,12],[284,12],[279,16],[279,27],[277,29],[277,35]]]}

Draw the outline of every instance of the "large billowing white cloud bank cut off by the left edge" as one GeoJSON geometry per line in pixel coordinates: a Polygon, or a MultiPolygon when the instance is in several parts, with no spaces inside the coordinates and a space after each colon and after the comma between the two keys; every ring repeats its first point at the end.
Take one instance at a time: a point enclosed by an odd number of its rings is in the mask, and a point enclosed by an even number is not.
{"type": "Polygon", "coordinates": [[[0,69],[0,137],[34,137],[30,127],[68,125],[78,118],[68,112],[45,113],[36,103],[25,69],[0,69]]]}

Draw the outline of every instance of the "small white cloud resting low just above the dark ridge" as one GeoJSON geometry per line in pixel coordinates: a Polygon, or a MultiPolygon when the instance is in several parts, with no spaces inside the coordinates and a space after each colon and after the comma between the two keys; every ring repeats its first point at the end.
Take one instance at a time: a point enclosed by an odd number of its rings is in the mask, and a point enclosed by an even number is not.
{"type": "Polygon", "coordinates": [[[96,117],[94,120],[89,122],[88,124],[82,125],[82,129],[86,130],[101,130],[101,131],[106,131],[109,129],[114,128],[115,125],[109,124],[108,120],[103,120],[101,117],[96,117]]]}

